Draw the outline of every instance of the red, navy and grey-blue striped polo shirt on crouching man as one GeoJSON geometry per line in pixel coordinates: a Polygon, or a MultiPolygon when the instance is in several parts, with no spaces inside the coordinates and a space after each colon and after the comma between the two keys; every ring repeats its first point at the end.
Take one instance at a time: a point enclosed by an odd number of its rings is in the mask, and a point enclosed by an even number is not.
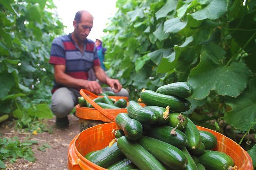
{"type": "MultiPolygon", "coordinates": [[[[83,53],[78,45],[68,35],[54,38],[50,51],[49,63],[53,65],[65,65],[65,73],[78,79],[88,79],[88,71],[94,66],[100,66],[96,46],[93,40],[87,39],[84,42],[83,53]]],[[[57,84],[54,80],[52,93],[63,85],[57,84]]],[[[80,89],[77,89],[80,90],[80,89]]]]}

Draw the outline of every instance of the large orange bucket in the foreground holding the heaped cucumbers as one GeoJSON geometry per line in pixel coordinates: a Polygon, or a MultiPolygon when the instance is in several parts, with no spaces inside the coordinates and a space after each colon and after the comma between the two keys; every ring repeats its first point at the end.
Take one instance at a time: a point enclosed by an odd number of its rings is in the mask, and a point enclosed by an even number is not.
{"type": "MultiPolygon", "coordinates": [[[[111,133],[113,129],[119,129],[115,122],[99,124],[76,135],[68,147],[68,169],[106,170],[88,161],[84,156],[91,151],[108,146],[114,138],[114,134],[111,133]]],[[[213,130],[200,126],[197,126],[197,129],[214,134],[218,139],[214,150],[229,154],[234,159],[235,165],[238,166],[238,170],[253,170],[251,157],[236,142],[213,130]]]]}

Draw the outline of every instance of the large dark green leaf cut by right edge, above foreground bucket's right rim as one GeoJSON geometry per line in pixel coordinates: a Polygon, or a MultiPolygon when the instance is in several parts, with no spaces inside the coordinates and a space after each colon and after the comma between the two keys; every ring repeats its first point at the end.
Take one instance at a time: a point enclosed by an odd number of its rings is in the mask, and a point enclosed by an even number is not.
{"type": "Polygon", "coordinates": [[[256,118],[256,88],[253,81],[249,81],[248,87],[240,96],[228,98],[226,104],[232,110],[225,113],[224,120],[239,130],[248,131],[256,118]]]}

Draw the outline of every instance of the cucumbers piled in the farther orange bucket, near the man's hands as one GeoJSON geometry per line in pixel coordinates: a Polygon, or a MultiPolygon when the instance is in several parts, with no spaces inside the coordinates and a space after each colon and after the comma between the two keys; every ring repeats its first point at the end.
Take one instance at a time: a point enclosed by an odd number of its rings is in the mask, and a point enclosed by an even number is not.
{"type": "MultiPolygon", "coordinates": [[[[105,91],[100,96],[103,96],[103,97],[94,98],[93,101],[103,109],[123,109],[127,107],[127,101],[125,99],[120,98],[119,100],[115,101],[108,97],[108,96],[115,96],[115,93],[112,91],[105,91]]],[[[78,104],[80,107],[94,108],[82,96],[78,97],[78,104]]]]}

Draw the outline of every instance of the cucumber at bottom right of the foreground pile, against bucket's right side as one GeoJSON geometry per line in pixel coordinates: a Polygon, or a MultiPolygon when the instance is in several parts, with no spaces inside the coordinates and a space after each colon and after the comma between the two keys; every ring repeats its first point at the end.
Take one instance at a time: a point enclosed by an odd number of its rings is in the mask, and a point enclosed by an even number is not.
{"type": "Polygon", "coordinates": [[[233,159],[219,151],[205,151],[198,159],[199,163],[203,164],[207,170],[227,170],[229,166],[234,166],[233,159]]]}

